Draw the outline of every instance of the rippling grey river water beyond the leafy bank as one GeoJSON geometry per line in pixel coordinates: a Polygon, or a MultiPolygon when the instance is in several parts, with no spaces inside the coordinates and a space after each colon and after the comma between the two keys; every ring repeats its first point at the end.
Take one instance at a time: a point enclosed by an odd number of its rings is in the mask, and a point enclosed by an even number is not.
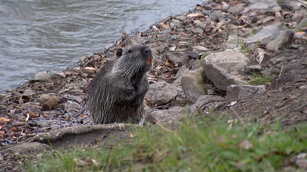
{"type": "Polygon", "coordinates": [[[122,36],[201,0],[0,0],[0,91],[61,71],[122,36]]]}

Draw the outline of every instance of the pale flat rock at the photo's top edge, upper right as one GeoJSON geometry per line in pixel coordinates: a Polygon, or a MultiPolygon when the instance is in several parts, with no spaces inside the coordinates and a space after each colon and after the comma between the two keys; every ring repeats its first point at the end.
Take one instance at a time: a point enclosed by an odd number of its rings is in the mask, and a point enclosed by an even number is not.
{"type": "Polygon", "coordinates": [[[247,13],[251,9],[263,9],[268,12],[279,12],[282,10],[277,3],[277,0],[258,0],[253,1],[250,6],[247,6],[242,13],[247,13]]]}

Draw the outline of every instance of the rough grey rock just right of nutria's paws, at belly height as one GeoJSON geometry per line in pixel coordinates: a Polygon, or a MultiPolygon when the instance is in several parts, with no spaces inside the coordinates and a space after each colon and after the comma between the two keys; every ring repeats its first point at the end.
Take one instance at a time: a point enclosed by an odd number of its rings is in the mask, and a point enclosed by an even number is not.
{"type": "Polygon", "coordinates": [[[150,84],[145,97],[150,100],[153,105],[165,105],[176,99],[178,91],[182,92],[182,89],[167,82],[158,82],[157,84],[150,84]]]}

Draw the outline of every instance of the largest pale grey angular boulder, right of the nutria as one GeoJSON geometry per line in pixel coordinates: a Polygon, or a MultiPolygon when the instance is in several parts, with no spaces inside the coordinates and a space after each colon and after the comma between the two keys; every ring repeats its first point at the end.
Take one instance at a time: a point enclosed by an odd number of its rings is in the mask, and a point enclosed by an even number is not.
{"type": "Polygon", "coordinates": [[[203,69],[216,88],[226,91],[231,84],[248,82],[243,76],[250,59],[238,51],[224,51],[212,53],[202,60],[203,69]]]}

